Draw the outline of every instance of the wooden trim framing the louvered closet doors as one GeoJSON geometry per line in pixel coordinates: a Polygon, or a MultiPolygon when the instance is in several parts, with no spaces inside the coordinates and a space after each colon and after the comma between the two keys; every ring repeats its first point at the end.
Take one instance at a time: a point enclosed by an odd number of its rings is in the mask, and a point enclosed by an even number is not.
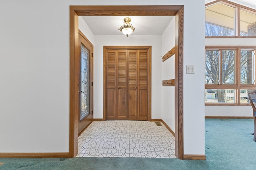
{"type": "Polygon", "coordinates": [[[107,120],[107,72],[106,57],[108,49],[147,49],[148,50],[148,121],[151,121],[151,46],[104,46],[103,47],[103,120],[107,120]]]}

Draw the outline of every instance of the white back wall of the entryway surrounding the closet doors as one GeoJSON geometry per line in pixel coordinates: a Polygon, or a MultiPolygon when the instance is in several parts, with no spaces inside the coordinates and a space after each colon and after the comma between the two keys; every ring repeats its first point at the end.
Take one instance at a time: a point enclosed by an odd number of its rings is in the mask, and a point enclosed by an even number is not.
{"type": "Polygon", "coordinates": [[[94,35],[94,118],[103,118],[103,46],[152,46],[152,119],[161,119],[161,35],[94,35]]]}

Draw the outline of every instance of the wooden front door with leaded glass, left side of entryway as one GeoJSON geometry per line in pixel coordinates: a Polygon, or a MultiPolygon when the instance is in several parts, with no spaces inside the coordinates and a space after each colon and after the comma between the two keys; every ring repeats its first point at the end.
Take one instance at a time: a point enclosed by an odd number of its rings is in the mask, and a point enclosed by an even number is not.
{"type": "Polygon", "coordinates": [[[93,46],[90,41],[79,31],[80,60],[77,63],[79,70],[79,119],[78,134],[93,121],[93,46]]]}

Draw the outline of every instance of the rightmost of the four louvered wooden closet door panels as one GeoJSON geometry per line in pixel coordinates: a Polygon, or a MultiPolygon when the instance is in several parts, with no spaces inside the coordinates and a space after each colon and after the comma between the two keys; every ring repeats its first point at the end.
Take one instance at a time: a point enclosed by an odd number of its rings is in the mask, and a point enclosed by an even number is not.
{"type": "Polygon", "coordinates": [[[148,50],[138,51],[138,120],[148,120],[148,50]]]}

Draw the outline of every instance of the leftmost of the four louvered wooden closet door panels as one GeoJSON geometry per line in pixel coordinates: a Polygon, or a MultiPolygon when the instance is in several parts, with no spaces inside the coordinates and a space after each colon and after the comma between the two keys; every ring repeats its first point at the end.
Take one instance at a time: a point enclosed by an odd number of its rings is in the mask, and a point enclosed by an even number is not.
{"type": "Polygon", "coordinates": [[[107,72],[107,92],[106,92],[106,111],[107,119],[116,118],[116,50],[109,49],[107,51],[106,72],[107,72]]]}

